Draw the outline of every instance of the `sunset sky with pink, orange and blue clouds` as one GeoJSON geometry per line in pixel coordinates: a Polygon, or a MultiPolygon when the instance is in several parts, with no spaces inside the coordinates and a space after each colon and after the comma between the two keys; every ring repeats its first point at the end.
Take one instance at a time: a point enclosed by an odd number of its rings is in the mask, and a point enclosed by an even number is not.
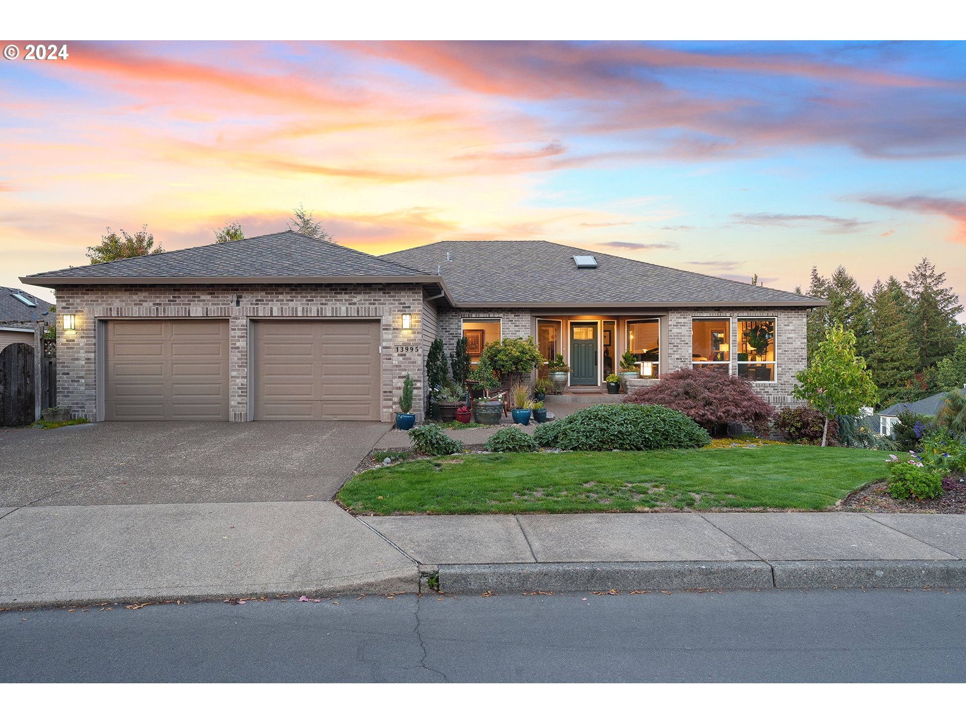
{"type": "Polygon", "coordinates": [[[58,42],[0,60],[0,285],[281,231],[371,254],[542,238],[868,291],[926,256],[966,299],[964,42],[58,42]]]}

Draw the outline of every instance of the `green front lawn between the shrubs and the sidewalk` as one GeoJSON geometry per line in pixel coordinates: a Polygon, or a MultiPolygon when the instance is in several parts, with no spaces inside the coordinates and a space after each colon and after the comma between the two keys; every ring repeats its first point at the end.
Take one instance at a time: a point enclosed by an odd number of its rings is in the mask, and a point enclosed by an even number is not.
{"type": "Polygon", "coordinates": [[[876,450],[768,445],[649,453],[497,453],[402,462],[352,478],[355,513],[820,511],[886,477],[876,450]]]}

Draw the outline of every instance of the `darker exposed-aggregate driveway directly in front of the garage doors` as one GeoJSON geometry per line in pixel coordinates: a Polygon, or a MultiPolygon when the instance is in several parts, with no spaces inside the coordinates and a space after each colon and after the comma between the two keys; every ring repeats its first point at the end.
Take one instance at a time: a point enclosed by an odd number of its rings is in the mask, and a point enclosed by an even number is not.
{"type": "Polygon", "coordinates": [[[0,508],[328,500],[389,427],[167,422],[0,431],[0,508]]]}

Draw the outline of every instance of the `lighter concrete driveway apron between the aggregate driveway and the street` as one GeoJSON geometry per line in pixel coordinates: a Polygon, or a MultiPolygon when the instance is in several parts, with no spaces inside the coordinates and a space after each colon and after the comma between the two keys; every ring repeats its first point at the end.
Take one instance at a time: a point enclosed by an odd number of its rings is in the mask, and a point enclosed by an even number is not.
{"type": "Polygon", "coordinates": [[[0,607],[418,590],[327,501],[0,508],[0,550],[0,607]]]}

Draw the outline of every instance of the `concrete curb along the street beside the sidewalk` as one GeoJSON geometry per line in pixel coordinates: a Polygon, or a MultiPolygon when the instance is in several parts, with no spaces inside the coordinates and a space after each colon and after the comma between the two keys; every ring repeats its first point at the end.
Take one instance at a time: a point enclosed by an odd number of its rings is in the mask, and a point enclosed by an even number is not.
{"type": "Polygon", "coordinates": [[[688,561],[453,564],[450,594],[763,588],[966,588],[966,561],[688,561]]]}

